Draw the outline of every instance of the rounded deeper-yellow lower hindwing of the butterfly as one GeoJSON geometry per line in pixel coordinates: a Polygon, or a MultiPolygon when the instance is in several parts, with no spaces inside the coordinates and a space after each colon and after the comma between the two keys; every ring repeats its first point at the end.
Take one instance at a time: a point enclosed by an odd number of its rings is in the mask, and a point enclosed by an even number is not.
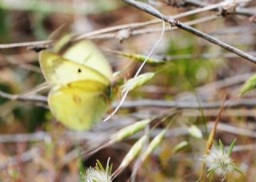
{"type": "Polygon", "coordinates": [[[74,130],[90,129],[109,109],[110,86],[98,81],[74,81],[51,89],[48,104],[54,117],[74,130]]]}

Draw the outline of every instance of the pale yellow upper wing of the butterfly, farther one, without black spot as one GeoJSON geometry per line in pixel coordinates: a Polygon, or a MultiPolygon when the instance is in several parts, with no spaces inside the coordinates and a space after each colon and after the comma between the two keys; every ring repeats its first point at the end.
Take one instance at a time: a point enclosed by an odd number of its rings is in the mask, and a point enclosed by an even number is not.
{"type": "Polygon", "coordinates": [[[113,78],[109,61],[107,61],[101,51],[88,40],[82,40],[71,45],[69,49],[66,49],[62,56],[97,70],[110,81],[113,78]]]}

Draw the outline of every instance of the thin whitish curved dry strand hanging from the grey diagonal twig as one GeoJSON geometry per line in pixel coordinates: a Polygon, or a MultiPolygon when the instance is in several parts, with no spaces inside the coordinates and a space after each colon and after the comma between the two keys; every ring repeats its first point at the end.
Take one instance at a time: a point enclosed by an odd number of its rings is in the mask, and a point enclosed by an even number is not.
{"type": "MultiPolygon", "coordinates": [[[[150,7],[150,9],[154,10],[156,13],[160,14],[160,12],[158,10],[154,9],[152,6],[149,6],[149,7],[150,7]]],[[[154,52],[154,49],[156,49],[158,44],[161,42],[162,37],[163,37],[163,35],[165,33],[166,23],[163,20],[162,14],[160,14],[160,15],[161,15],[161,18],[162,18],[162,31],[161,31],[160,37],[158,38],[158,41],[154,43],[154,46],[152,47],[152,49],[150,49],[150,53],[147,54],[146,59],[142,62],[142,65],[139,66],[137,72],[134,75],[134,78],[138,77],[138,74],[141,73],[142,68],[146,64],[146,61],[150,58],[150,56],[154,52]]],[[[130,88],[132,88],[133,84],[134,83],[131,83],[130,85],[128,85],[128,88],[126,89],[126,92],[123,94],[122,99],[119,102],[118,106],[114,109],[114,111],[112,113],[110,113],[110,115],[108,117],[106,117],[103,120],[104,122],[110,120],[110,118],[113,117],[114,114],[118,112],[118,109],[120,109],[120,107],[122,106],[123,102],[126,100],[126,97],[127,97],[128,93],[129,93],[129,90],[130,90],[130,88]]]]}

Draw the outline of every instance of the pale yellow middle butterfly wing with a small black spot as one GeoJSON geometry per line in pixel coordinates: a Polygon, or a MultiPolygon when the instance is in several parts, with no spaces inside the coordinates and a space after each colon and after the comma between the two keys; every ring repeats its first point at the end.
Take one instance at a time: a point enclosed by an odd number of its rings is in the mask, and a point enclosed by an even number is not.
{"type": "Polygon", "coordinates": [[[50,86],[66,85],[79,80],[99,81],[104,85],[110,84],[110,80],[101,73],[98,73],[98,71],[60,57],[58,54],[51,53],[50,51],[42,51],[40,53],[39,63],[46,82],[50,86]]]}

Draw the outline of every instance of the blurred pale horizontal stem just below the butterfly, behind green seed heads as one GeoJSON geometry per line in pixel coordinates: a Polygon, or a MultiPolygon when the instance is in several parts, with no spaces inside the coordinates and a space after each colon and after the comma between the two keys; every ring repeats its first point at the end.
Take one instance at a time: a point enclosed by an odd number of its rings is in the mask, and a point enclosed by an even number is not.
{"type": "MultiPolygon", "coordinates": [[[[131,125],[134,122],[126,123],[126,125],[131,125]]],[[[111,121],[110,124],[113,129],[113,127],[118,128],[120,125],[120,120],[111,121]],[[117,127],[118,126],[118,127],[117,127]]],[[[123,126],[122,126],[123,127],[123,126]]],[[[210,121],[207,124],[207,129],[212,129],[214,127],[214,122],[210,121]]],[[[204,129],[204,126],[199,125],[199,129],[204,129]]],[[[256,138],[256,133],[253,130],[241,128],[240,126],[235,125],[227,125],[224,123],[218,124],[218,132],[225,132],[225,133],[231,133],[234,135],[241,135],[245,137],[252,137],[256,138]]],[[[150,133],[150,137],[156,137],[158,133],[160,133],[162,129],[154,129],[152,133],[150,133]]],[[[112,133],[112,132],[110,132],[112,133]]],[[[166,133],[166,137],[179,137],[188,134],[189,131],[187,127],[177,127],[173,129],[169,129],[169,131],[166,133]]],[[[133,137],[130,137],[130,139],[138,139],[143,133],[136,134],[133,137]]],[[[106,133],[102,133],[101,130],[94,131],[94,132],[74,132],[74,131],[66,131],[63,133],[62,136],[58,137],[58,141],[66,140],[67,138],[69,140],[77,140],[77,141],[92,141],[94,143],[95,140],[97,142],[100,141],[99,138],[102,138],[106,140],[106,138],[110,137],[111,135],[106,135],[106,133]]],[[[0,143],[20,143],[20,142],[50,142],[51,141],[51,134],[46,132],[37,132],[37,133],[18,133],[18,134],[0,134],[0,143]]]]}

